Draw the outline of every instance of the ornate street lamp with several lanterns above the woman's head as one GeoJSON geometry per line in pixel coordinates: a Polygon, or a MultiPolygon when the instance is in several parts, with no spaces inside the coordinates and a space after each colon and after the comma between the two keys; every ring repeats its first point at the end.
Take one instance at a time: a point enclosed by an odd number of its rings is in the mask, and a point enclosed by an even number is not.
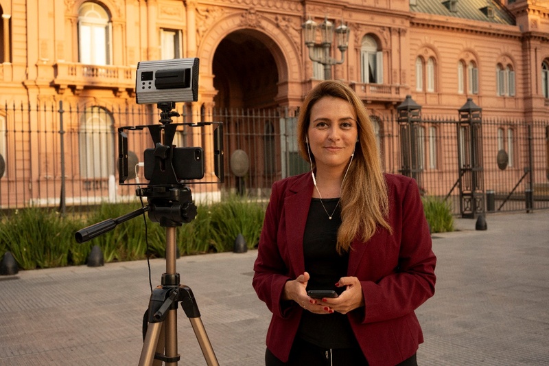
{"type": "Polygon", "coordinates": [[[345,58],[345,51],[349,47],[349,27],[341,22],[340,26],[336,28],[336,46],[341,52],[341,60],[331,58],[330,49],[334,38],[334,23],[328,20],[326,16],[324,21],[318,25],[316,21],[309,18],[308,21],[301,25],[303,28],[303,35],[305,36],[305,45],[309,49],[309,58],[314,62],[319,62],[324,66],[324,79],[331,79],[331,67],[332,65],[340,65],[345,58]],[[314,44],[316,41],[316,29],[320,30],[320,44],[323,47],[323,54],[320,58],[314,55],[314,44]]]}

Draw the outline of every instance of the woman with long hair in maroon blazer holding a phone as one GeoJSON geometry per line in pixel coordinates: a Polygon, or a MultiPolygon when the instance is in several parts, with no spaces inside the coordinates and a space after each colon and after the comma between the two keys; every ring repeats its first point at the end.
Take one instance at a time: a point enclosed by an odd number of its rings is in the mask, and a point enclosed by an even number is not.
{"type": "Polygon", "coordinates": [[[297,128],[311,172],[272,186],[254,265],[272,312],[266,365],[417,365],[414,310],[436,263],[417,183],[382,172],[366,108],[341,82],[307,95],[297,128]]]}

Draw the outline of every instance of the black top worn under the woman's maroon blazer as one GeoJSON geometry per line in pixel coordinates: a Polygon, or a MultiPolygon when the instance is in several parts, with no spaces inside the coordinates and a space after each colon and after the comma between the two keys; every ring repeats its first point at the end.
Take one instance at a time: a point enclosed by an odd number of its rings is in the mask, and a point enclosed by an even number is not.
{"type": "MultiPolygon", "coordinates": [[[[339,198],[325,198],[322,202],[320,198],[312,198],[303,236],[305,271],[311,276],[307,282],[307,290],[336,290],[338,294],[344,290],[335,286],[341,277],[347,275],[349,263],[349,253],[339,255],[336,251],[337,233],[341,225],[338,202],[339,198]],[[334,211],[336,205],[338,207],[334,216],[329,220],[328,215],[334,211]]],[[[323,348],[348,348],[356,345],[347,315],[339,312],[313,314],[304,310],[298,336],[323,348]]]]}

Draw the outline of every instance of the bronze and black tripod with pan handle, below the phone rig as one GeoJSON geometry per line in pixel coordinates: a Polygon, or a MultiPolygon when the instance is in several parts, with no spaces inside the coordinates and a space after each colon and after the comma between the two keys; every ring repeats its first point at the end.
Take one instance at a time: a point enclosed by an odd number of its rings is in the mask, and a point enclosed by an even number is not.
{"type": "Polygon", "coordinates": [[[149,218],[166,228],[166,271],[162,275],[161,286],[152,290],[146,319],[143,319],[143,348],[139,366],[177,365],[180,360],[177,351],[178,303],[181,303],[191,322],[207,365],[218,366],[192,290],[180,284],[179,273],[176,273],[176,227],[196,216],[191,191],[184,185],[149,187],[137,190],[137,195],[147,196],[149,205],[114,220],[107,219],[81,229],[75,233],[76,241],[82,243],[95,238],[114,229],[119,223],[149,211],[149,218]]]}

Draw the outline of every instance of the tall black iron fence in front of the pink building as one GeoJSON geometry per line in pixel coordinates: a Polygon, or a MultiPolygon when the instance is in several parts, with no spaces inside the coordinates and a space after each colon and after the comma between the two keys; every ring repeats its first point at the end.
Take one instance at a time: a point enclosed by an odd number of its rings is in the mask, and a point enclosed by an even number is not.
{"type": "MultiPolygon", "coordinates": [[[[266,200],[274,181],[307,170],[297,152],[294,111],[192,112],[185,105],[177,111],[174,124],[223,124],[224,182],[187,182],[198,202],[228,192],[266,200]]],[[[474,212],[549,208],[549,121],[482,119],[474,134],[457,111],[455,117],[418,115],[410,126],[396,118],[372,122],[386,172],[414,176],[423,194],[449,200],[454,214],[471,209],[464,202],[482,205],[474,212]],[[480,203],[464,199],[471,185],[480,203]]],[[[132,185],[119,185],[118,128],[158,123],[159,110],[150,105],[6,104],[0,109],[0,209],[34,205],[80,215],[102,202],[136,200],[135,184],[147,184],[143,150],[153,147],[152,139],[146,128],[132,131],[132,185]]],[[[207,126],[182,126],[174,144],[202,146],[210,157],[212,134],[207,126]]],[[[213,165],[205,161],[209,181],[216,178],[213,165]]]]}

